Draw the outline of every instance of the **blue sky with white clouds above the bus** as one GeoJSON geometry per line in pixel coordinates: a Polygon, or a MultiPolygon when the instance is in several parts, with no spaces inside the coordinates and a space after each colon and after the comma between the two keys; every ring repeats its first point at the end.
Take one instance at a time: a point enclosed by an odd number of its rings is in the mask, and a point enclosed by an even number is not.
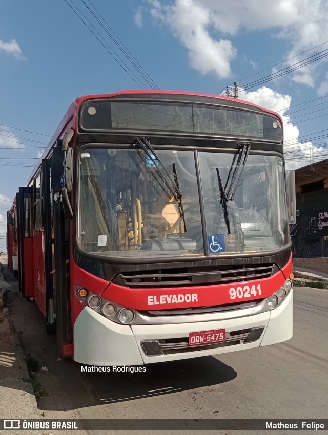
{"type": "Polygon", "coordinates": [[[0,252],[15,192],[78,96],[227,95],[237,81],[240,99],[282,116],[287,169],[328,158],[327,22],[325,0],[3,2],[0,252]]]}

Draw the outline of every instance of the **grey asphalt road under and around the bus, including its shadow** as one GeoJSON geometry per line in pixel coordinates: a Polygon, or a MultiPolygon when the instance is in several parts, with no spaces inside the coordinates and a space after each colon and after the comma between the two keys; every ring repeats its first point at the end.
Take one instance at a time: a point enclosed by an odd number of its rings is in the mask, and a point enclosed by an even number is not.
{"type": "MultiPolygon", "coordinates": [[[[46,392],[38,399],[42,417],[328,417],[327,290],[294,288],[294,336],[286,343],[218,357],[151,364],[146,373],[81,373],[80,365],[72,360],[56,361],[55,337],[46,335],[45,319],[36,303],[21,299],[17,280],[5,267],[4,273],[13,284],[8,303],[25,352],[48,368],[40,372],[46,392]]],[[[192,433],[181,433],[187,432],[192,433]]]]}

